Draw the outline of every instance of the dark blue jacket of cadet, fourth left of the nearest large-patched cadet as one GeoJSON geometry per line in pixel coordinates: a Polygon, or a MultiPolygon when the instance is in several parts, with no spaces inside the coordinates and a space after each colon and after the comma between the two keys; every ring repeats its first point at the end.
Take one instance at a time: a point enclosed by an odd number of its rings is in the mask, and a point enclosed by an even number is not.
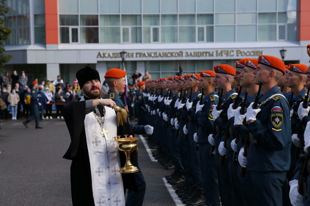
{"type": "Polygon", "coordinates": [[[204,107],[201,111],[197,111],[196,119],[199,123],[199,129],[197,132],[198,143],[209,143],[208,136],[213,132],[213,116],[212,110],[215,105],[219,102],[219,96],[215,91],[203,98],[204,107]]]}

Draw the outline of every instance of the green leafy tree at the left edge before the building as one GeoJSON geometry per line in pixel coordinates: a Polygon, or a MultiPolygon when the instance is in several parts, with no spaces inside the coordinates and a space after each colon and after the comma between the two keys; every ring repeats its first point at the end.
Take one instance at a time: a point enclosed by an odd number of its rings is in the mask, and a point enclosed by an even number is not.
{"type": "Polygon", "coordinates": [[[0,0],[0,66],[4,66],[13,56],[7,55],[4,49],[4,42],[10,38],[12,29],[5,26],[4,16],[11,12],[6,5],[6,0],[0,0]]]}

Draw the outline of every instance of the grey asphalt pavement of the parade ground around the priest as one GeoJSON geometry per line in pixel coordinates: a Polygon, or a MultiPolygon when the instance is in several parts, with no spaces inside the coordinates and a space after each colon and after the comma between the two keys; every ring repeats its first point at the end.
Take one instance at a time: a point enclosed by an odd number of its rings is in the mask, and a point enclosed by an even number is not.
{"type": "MultiPolygon", "coordinates": [[[[70,137],[63,120],[43,120],[43,129],[34,122],[3,120],[0,129],[0,205],[72,205],[70,189],[71,161],[62,156],[70,137]]],[[[145,206],[175,205],[162,178],[164,170],[152,162],[141,140],[139,165],[146,182],[145,206]]]]}

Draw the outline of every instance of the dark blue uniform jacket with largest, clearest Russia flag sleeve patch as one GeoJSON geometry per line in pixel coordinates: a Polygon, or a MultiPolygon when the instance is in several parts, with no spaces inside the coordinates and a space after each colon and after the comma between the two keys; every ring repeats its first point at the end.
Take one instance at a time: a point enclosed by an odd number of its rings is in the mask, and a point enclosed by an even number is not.
{"type": "Polygon", "coordinates": [[[257,172],[288,171],[290,168],[290,107],[277,85],[259,98],[261,111],[249,129],[257,140],[250,144],[248,170],[257,172]]]}

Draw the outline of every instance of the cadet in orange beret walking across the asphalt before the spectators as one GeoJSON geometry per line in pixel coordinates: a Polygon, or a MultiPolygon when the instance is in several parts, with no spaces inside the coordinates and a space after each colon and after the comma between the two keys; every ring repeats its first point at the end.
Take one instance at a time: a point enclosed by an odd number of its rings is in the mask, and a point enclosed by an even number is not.
{"type": "Polygon", "coordinates": [[[39,120],[40,120],[40,114],[39,114],[39,104],[41,103],[38,102],[38,82],[32,82],[32,89],[30,91],[31,94],[31,111],[32,111],[32,116],[29,117],[28,120],[24,121],[23,124],[26,128],[28,128],[27,124],[35,120],[36,121],[36,129],[42,129],[42,127],[39,127],[39,120]]]}

